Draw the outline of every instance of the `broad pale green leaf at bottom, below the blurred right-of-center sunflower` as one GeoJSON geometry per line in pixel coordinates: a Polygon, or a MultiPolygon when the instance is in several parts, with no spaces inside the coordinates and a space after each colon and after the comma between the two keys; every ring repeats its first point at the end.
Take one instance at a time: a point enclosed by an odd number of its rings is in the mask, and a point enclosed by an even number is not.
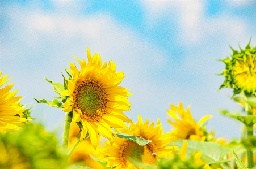
{"type": "MultiPolygon", "coordinates": [[[[175,146],[182,147],[184,141],[174,142],[175,146]]],[[[207,160],[207,164],[224,163],[229,160],[223,159],[230,152],[229,148],[225,148],[216,142],[202,142],[188,140],[187,155],[191,155],[194,151],[202,151],[202,160],[207,160]]]]}

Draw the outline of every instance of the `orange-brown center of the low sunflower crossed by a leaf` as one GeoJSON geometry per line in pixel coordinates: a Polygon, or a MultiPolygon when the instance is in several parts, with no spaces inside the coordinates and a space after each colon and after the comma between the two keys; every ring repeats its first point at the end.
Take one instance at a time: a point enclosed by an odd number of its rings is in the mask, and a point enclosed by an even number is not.
{"type": "MultiPolygon", "coordinates": [[[[133,161],[143,162],[146,164],[156,164],[156,151],[154,144],[149,143],[144,146],[140,146],[133,141],[126,140],[119,149],[118,157],[125,168],[131,165],[133,161]]],[[[133,168],[136,168],[132,164],[133,168]]]]}

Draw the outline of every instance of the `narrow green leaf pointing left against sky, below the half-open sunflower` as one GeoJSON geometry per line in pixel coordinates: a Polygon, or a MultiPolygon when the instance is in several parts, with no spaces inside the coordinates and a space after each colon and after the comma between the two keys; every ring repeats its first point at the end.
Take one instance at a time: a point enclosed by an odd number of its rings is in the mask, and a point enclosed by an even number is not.
{"type": "Polygon", "coordinates": [[[236,119],[242,123],[244,123],[246,126],[251,127],[254,123],[256,123],[256,115],[247,115],[243,116],[239,114],[238,112],[229,112],[228,110],[220,110],[221,114],[229,116],[230,118],[236,119]]]}

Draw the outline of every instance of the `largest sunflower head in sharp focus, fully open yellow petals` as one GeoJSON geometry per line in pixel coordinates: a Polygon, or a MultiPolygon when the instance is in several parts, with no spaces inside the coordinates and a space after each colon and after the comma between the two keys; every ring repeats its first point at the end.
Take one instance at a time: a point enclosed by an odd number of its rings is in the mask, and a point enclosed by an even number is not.
{"type": "MultiPolygon", "coordinates": [[[[72,122],[82,123],[80,140],[87,132],[91,143],[96,149],[98,135],[108,138],[113,143],[112,128],[127,128],[124,122],[131,123],[131,119],[123,114],[130,110],[128,96],[129,89],[118,86],[124,79],[124,72],[115,72],[116,64],[112,60],[104,62],[100,55],[92,57],[87,48],[88,63],[75,57],[80,64],[80,71],[73,64],[68,70],[73,78],[68,80],[68,89],[60,95],[69,96],[63,105],[63,111],[73,111],[72,122]]],[[[116,136],[117,137],[117,136],[116,136]]]]}

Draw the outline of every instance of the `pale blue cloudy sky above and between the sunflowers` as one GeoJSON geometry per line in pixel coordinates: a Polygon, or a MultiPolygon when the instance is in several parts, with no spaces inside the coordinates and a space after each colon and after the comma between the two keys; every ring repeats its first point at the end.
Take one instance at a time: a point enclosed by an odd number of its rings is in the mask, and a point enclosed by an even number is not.
{"type": "MultiPolygon", "coordinates": [[[[216,109],[241,110],[232,90],[216,90],[229,44],[256,44],[255,1],[1,1],[0,70],[14,76],[23,103],[52,99],[44,77],[62,82],[68,62],[86,58],[86,47],[125,72],[133,89],[129,118],[160,118],[165,132],[169,104],[191,105],[196,120],[211,114],[208,130],[240,137],[240,124],[216,109]]],[[[64,112],[35,104],[32,116],[47,129],[61,127],[64,112]]]]}

